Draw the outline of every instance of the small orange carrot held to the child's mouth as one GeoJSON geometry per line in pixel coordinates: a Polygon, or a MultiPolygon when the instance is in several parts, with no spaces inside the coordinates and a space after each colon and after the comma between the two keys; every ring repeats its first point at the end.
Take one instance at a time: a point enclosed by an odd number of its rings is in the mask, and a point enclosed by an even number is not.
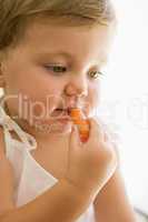
{"type": "Polygon", "coordinates": [[[89,121],[78,108],[72,108],[70,110],[70,117],[73,123],[78,127],[81,142],[86,142],[89,138],[89,121]]]}

